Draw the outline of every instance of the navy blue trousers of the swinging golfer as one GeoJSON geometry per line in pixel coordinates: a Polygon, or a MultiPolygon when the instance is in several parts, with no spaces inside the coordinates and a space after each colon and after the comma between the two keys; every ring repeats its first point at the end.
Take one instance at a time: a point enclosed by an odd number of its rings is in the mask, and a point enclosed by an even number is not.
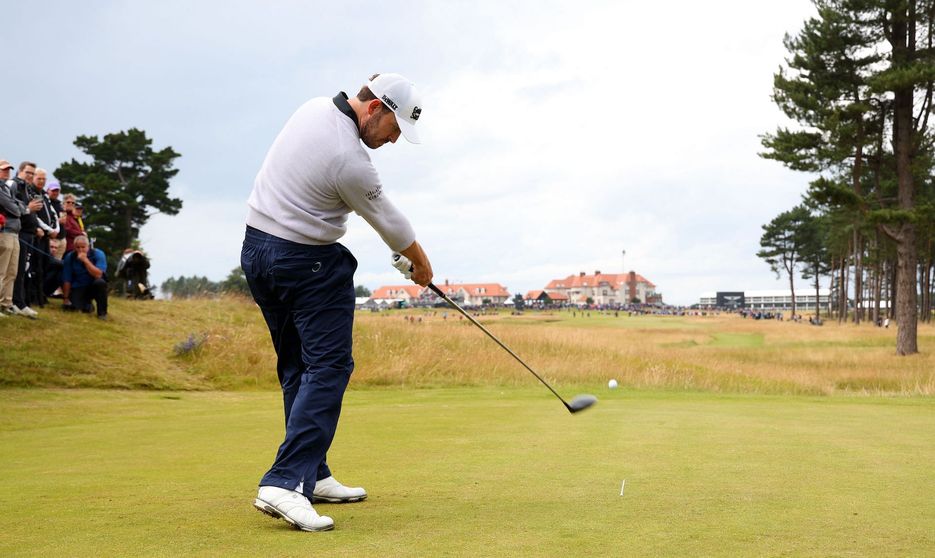
{"type": "Polygon", "coordinates": [[[286,436],[260,486],[312,495],[331,476],[325,461],[338,430],[353,371],[353,272],[357,260],[338,243],[297,244],[247,227],[240,252],[253,300],[276,349],[286,436]]]}

